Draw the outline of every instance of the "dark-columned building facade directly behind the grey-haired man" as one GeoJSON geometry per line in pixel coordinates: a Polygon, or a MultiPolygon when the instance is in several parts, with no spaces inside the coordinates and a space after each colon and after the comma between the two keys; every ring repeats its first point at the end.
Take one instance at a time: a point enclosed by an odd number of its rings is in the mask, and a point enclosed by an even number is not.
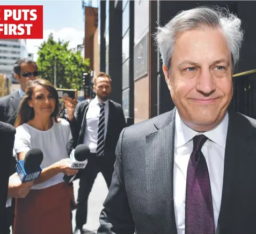
{"type": "MultiPolygon", "coordinates": [[[[158,24],[165,25],[178,12],[203,5],[228,7],[230,12],[242,19],[245,40],[241,59],[234,73],[256,69],[256,32],[253,28],[256,2],[98,2],[98,43],[93,44],[99,55],[98,71],[107,72],[111,76],[112,99],[122,103],[129,124],[141,122],[174,108],[164,79],[163,64],[152,35],[156,33],[158,24]]],[[[246,89],[242,91],[246,92],[246,89]]],[[[242,98],[242,91],[236,93],[235,89],[234,95],[242,98]]],[[[256,97],[254,104],[256,105],[256,97]]]]}

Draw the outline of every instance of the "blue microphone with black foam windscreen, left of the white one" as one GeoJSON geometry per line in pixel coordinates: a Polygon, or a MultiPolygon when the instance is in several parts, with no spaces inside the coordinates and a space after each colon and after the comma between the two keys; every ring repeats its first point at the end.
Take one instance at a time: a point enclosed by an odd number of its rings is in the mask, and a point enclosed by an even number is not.
{"type": "Polygon", "coordinates": [[[37,179],[40,176],[42,160],[42,150],[34,148],[26,153],[24,160],[18,161],[16,171],[22,183],[37,179]]]}

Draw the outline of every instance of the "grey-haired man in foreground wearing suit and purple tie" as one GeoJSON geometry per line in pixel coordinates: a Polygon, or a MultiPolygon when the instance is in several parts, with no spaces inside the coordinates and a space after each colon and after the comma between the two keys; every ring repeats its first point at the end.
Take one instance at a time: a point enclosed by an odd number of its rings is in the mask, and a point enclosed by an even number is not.
{"type": "Polygon", "coordinates": [[[228,111],[243,31],[223,13],[158,28],[175,109],[120,134],[98,234],[255,233],[256,120],[228,111]]]}

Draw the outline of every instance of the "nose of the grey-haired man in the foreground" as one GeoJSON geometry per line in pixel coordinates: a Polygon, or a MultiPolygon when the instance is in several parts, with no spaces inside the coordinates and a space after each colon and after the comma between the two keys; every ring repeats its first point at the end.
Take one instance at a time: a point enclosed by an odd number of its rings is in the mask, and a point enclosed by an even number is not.
{"type": "Polygon", "coordinates": [[[196,90],[210,94],[216,89],[216,80],[209,69],[202,69],[197,80],[196,90]]]}

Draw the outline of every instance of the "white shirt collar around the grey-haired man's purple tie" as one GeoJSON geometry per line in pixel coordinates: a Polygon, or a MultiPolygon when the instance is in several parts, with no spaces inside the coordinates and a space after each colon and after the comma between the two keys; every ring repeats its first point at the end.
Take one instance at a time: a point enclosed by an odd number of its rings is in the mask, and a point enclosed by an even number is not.
{"type": "MultiPolygon", "coordinates": [[[[229,124],[229,115],[226,112],[224,119],[220,124],[218,124],[215,129],[210,130],[208,132],[204,132],[203,134],[214,141],[217,145],[225,148],[226,146],[226,134],[228,132],[228,124],[229,124]]],[[[175,137],[174,137],[174,146],[180,147],[185,145],[188,141],[190,141],[193,137],[195,137],[199,132],[188,127],[183,120],[180,118],[178,110],[176,109],[175,114],[175,137]]]]}

